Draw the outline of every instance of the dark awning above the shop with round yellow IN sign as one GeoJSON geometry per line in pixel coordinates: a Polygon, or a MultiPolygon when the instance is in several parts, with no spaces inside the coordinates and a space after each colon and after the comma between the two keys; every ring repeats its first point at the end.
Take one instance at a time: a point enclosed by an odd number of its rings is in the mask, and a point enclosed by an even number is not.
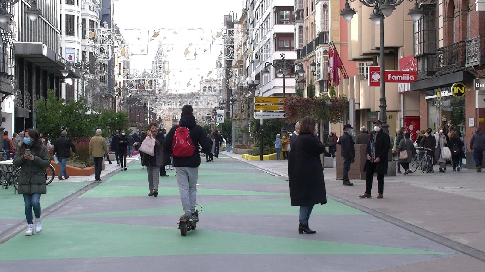
{"type": "Polygon", "coordinates": [[[436,89],[438,87],[451,86],[456,82],[470,82],[475,79],[468,71],[458,71],[442,76],[434,76],[423,80],[415,81],[409,84],[410,91],[420,91],[427,89],[436,89]]]}

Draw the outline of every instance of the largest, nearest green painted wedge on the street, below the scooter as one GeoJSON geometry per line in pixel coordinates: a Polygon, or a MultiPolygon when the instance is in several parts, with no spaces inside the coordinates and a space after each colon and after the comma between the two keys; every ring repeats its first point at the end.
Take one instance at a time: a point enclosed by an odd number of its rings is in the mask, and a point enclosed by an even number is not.
{"type": "MultiPolygon", "coordinates": [[[[197,229],[45,219],[40,234],[0,245],[0,260],[174,255],[456,255],[445,252],[197,229]]],[[[302,236],[304,237],[304,236],[302,236]]]]}

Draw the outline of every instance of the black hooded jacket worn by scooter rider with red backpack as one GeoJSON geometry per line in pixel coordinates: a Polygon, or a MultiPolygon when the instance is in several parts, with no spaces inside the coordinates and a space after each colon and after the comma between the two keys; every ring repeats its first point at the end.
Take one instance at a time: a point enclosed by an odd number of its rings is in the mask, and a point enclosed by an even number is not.
{"type": "MultiPolygon", "coordinates": [[[[174,166],[181,166],[181,167],[199,167],[200,166],[200,153],[198,150],[198,145],[202,148],[203,153],[210,153],[210,142],[207,136],[205,135],[204,130],[201,126],[195,124],[195,117],[193,115],[182,115],[178,125],[181,127],[186,127],[189,129],[190,137],[192,142],[195,146],[194,154],[190,157],[175,157],[174,156],[174,166]]],[[[163,151],[165,153],[171,154],[172,153],[172,140],[177,130],[177,126],[173,126],[170,131],[167,133],[167,137],[163,142],[163,151]]]]}

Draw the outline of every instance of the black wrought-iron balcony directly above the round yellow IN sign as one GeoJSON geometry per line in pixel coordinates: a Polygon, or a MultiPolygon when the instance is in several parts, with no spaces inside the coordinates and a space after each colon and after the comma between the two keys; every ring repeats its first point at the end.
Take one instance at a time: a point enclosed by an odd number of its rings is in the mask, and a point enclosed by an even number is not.
{"type": "Polygon", "coordinates": [[[465,70],[465,41],[436,49],[436,76],[465,70]]]}

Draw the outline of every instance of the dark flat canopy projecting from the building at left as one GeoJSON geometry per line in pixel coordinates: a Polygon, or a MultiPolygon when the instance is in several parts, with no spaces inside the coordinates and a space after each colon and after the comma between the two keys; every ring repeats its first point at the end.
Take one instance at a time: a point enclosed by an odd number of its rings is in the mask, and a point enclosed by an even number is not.
{"type": "MultiPolygon", "coordinates": [[[[66,67],[68,62],[56,52],[52,51],[43,43],[15,43],[15,56],[31,61],[33,64],[48,71],[54,76],[64,78],[61,71],[66,67]]],[[[81,73],[77,69],[67,69],[68,78],[81,78],[81,73]]]]}

